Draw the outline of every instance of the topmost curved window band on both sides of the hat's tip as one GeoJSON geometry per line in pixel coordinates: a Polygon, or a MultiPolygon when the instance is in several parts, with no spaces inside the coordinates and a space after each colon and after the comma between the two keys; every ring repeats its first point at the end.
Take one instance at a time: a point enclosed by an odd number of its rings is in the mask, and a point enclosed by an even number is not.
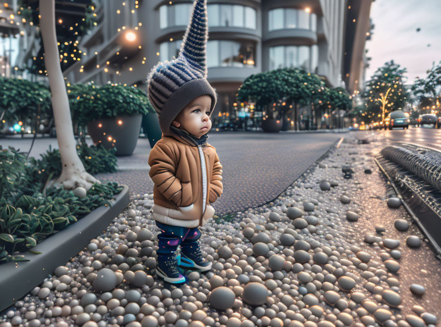
{"type": "MultiPolygon", "coordinates": [[[[241,27],[256,29],[256,9],[241,5],[214,4],[208,5],[209,27],[241,27]]],[[[187,26],[193,4],[163,5],[159,7],[160,28],[187,26]]]]}

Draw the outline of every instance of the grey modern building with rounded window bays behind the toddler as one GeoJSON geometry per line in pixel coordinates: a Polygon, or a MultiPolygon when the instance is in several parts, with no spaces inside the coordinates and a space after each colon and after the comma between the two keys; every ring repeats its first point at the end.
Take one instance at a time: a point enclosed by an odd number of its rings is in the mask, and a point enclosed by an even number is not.
{"type": "MultiPolygon", "coordinates": [[[[208,0],[208,80],[214,114],[236,115],[248,76],[302,67],[352,92],[362,72],[372,0],[208,0]],[[367,23],[366,23],[367,22],[367,23]]],[[[69,82],[108,81],[146,88],[158,62],[176,56],[192,0],[95,1],[97,25],[79,41],[69,82]]],[[[243,113],[243,112],[242,112],[243,113]]]]}

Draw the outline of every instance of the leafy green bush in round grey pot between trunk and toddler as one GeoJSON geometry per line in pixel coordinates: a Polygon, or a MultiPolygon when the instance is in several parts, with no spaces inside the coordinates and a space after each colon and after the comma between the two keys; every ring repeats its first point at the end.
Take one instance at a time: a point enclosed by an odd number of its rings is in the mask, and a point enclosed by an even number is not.
{"type": "Polygon", "coordinates": [[[67,87],[72,120],[78,124],[83,142],[87,127],[95,145],[115,147],[117,156],[131,155],[138,141],[142,115],[155,112],[144,92],[119,84],[67,87]]]}

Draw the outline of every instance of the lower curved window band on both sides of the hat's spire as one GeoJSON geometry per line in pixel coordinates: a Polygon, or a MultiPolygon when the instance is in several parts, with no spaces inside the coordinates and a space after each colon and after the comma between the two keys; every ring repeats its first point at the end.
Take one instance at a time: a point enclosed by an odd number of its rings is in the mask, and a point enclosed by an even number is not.
{"type": "MultiPolygon", "coordinates": [[[[160,44],[160,61],[177,57],[182,40],[160,44]]],[[[255,43],[249,41],[208,40],[207,67],[254,67],[256,57],[255,43]]]]}

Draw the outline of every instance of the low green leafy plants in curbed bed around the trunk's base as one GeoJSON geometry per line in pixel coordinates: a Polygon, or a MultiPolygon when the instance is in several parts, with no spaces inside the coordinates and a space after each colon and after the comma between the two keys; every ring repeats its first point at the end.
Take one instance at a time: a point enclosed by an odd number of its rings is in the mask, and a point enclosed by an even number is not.
{"type": "MultiPolygon", "coordinates": [[[[96,151],[91,148],[83,151],[96,151]]],[[[95,183],[82,199],[64,189],[44,190],[58,164],[61,172],[59,153],[47,153],[43,160],[27,160],[14,148],[0,146],[0,264],[24,260],[15,251],[31,249],[93,209],[111,205],[109,200],[122,190],[115,182],[95,183]]]]}

